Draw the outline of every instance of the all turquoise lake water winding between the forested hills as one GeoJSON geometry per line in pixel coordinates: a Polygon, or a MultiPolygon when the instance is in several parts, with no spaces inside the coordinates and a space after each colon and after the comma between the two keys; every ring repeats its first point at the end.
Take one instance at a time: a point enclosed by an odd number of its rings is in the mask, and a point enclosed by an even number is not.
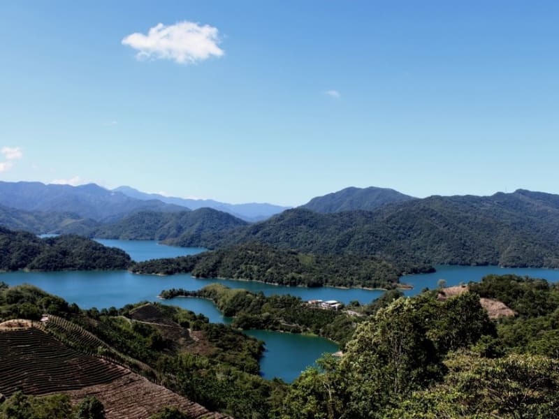
{"type": "MultiPolygon", "coordinates": [[[[203,251],[201,248],[168,247],[153,241],[98,240],[107,246],[123,249],[134,260],[152,258],[170,258],[203,251]]],[[[410,275],[400,280],[414,286],[405,291],[406,295],[415,295],[423,288],[437,288],[437,281],[445,279],[447,285],[460,282],[479,281],[486,274],[518,274],[559,281],[559,270],[532,268],[501,268],[495,266],[437,266],[432,274],[410,275]]],[[[233,281],[226,279],[195,279],[190,274],[177,274],[169,277],[155,275],[138,275],[126,271],[113,272],[7,272],[0,274],[0,281],[10,285],[33,284],[48,293],[60,295],[68,302],[75,302],[84,309],[97,307],[122,307],[124,304],[154,301],[157,295],[168,288],[198,290],[205,285],[220,283],[231,288],[246,288],[250,291],[262,291],[266,295],[291,294],[303,300],[339,300],[349,302],[358,300],[366,304],[375,300],[382,291],[339,288],[301,288],[263,284],[256,281],[233,281]]],[[[198,298],[175,298],[163,301],[164,304],[176,305],[196,313],[202,313],[214,323],[228,323],[228,319],[219,313],[209,300],[198,298]]],[[[305,337],[289,333],[269,332],[263,330],[247,331],[266,342],[266,353],[261,360],[261,372],[266,378],[279,377],[292,381],[322,353],[335,352],[333,342],[320,337],[305,337]]]]}

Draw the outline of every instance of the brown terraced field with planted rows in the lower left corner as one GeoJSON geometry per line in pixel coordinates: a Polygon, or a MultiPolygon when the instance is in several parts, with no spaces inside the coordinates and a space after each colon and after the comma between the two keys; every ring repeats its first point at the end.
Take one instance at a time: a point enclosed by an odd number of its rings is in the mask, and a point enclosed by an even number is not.
{"type": "MultiPolygon", "coordinates": [[[[175,406],[191,418],[228,418],[134,374],[108,360],[68,348],[41,325],[29,322],[0,328],[0,394],[17,390],[29,395],[65,392],[73,402],[95,395],[103,402],[108,419],[144,419],[175,406]],[[14,327],[17,326],[17,327],[14,327]]],[[[71,328],[71,325],[65,325],[71,328]]],[[[81,339],[96,337],[83,335],[81,339]]]]}

